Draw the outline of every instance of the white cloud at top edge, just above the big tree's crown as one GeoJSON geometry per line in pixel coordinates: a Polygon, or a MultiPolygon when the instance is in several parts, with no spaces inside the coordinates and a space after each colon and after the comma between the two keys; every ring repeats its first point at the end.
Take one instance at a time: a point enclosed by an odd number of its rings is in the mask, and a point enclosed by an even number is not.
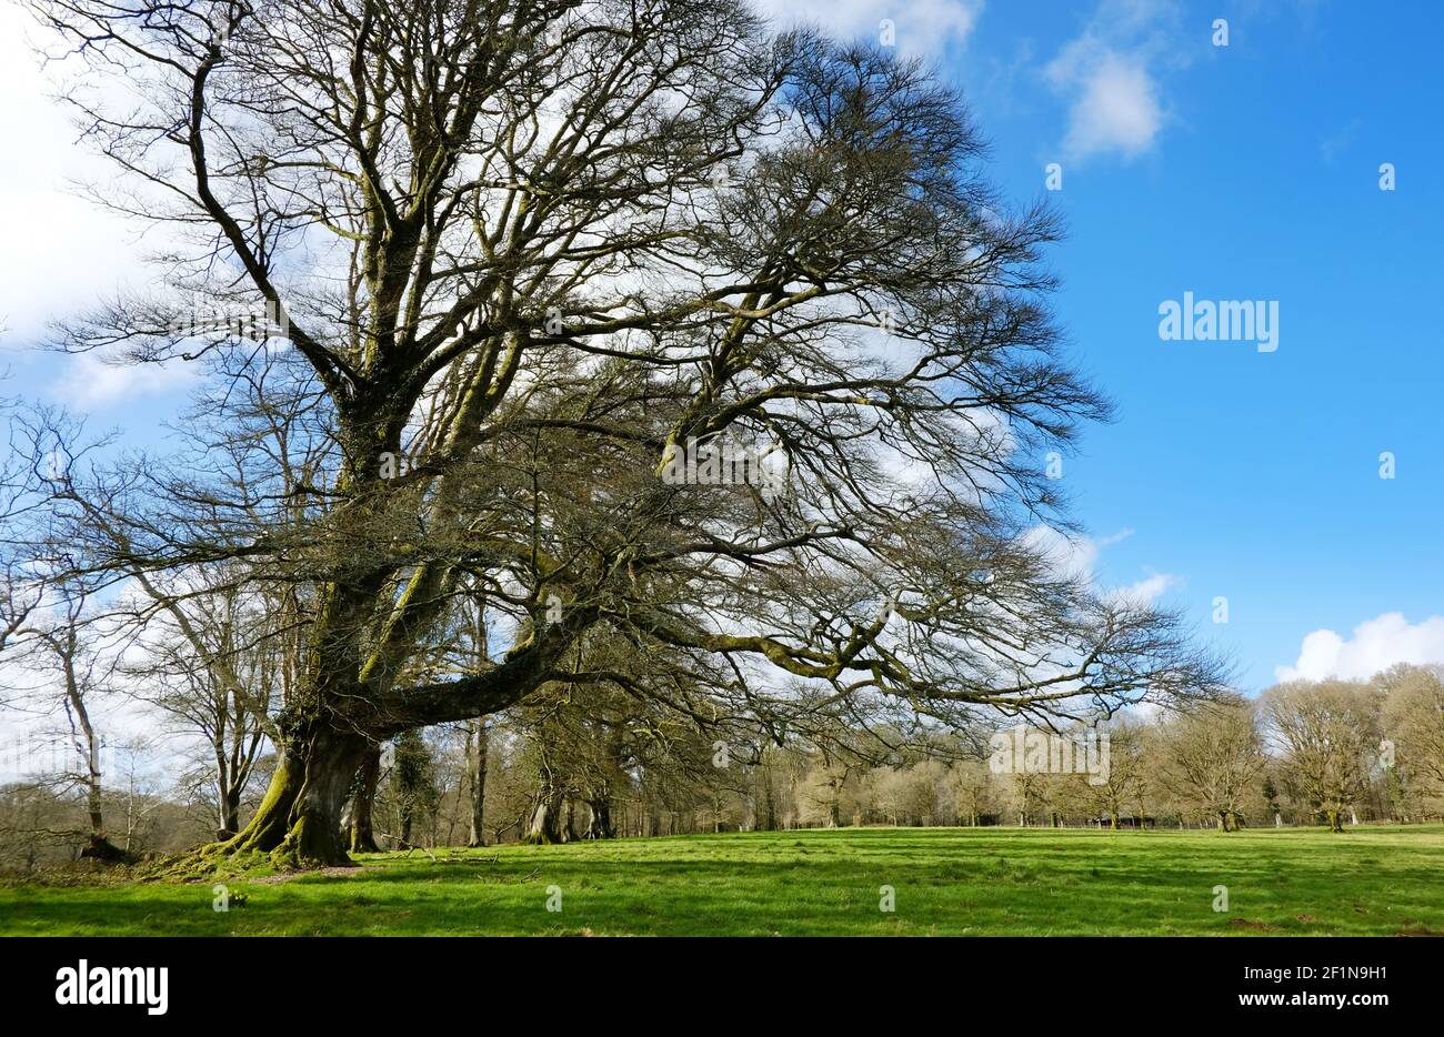
{"type": "Polygon", "coordinates": [[[882,22],[891,22],[904,53],[933,53],[947,43],[965,43],[978,23],[983,0],[761,0],[757,9],[777,26],[812,22],[833,36],[879,42],[882,22]]]}

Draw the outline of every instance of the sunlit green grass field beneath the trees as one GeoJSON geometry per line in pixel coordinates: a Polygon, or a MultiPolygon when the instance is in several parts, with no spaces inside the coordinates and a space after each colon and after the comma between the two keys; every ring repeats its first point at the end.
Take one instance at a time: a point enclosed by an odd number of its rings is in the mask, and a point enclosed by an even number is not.
{"type": "Polygon", "coordinates": [[[209,884],[10,885],[0,934],[1444,934],[1441,826],[840,829],[361,859],[232,880],[248,900],[228,913],[209,884]]]}

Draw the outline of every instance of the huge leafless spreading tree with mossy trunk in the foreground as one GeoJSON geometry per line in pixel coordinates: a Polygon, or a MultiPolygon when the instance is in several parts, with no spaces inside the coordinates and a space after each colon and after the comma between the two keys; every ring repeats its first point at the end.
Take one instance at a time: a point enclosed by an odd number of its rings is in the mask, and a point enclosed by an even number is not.
{"type": "Polygon", "coordinates": [[[68,478],[52,537],[303,625],[270,790],[208,854],[344,862],[377,742],[666,686],[619,643],[778,728],[1217,687],[1030,547],[1044,452],[1106,407],[1057,355],[1051,215],[920,65],[734,0],[27,3],[130,91],[71,92],[104,201],[182,243],[59,345],[211,389],[209,449],[68,478]],[[461,596],[497,635],[456,676],[461,596]]]}

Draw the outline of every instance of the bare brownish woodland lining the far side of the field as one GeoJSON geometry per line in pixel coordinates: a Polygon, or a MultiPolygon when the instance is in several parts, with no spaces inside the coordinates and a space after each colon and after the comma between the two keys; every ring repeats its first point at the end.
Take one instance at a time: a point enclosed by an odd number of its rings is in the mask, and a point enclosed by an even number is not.
{"type": "MultiPolygon", "coordinates": [[[[1258,702],[1154,722],[1119,719],[1109,780],[993,773],[941,738],[885,761],[827,760],[775,744],[719,747],[693,732],[595,725],[559,699],[482,724],[391,742],[371,806],[380,849],[565,842],[689,832],[856,825],[1217,828],[1444,819],[1444,670],[1399,666],[1369,682],[1281,685],[1258,702]],[[725,763],[726,765],[715,765],[725,763]],[[478,776],[482,776],[478,780],[478,776]]],[[[62,750],[64,751],[64,750],[62,750]]],[[[214,761],[179,781],[156,776],[155,747],[107,754],[100,793],[117,848],[175,854],[221,823],[214,761]]],[[[254,812],[273,757],[240,797],[254,812]]],[[[360,786],[355,791],[361,791],[360,786]]],[[[0,790],[0,868],[33,872],[88,845],[81,773],[0,790]]],[[[355,825],[355,800],[348,810],[355,825]]]]}

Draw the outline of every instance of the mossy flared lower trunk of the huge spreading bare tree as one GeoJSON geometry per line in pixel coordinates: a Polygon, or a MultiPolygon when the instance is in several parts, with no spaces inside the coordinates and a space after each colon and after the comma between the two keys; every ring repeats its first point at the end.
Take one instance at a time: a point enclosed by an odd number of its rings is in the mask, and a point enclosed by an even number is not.
{"type": "Polygon", "coordinates": [[[351,865],[341,812],[373,742],[355,732],[318,726],[282,748],[256,816],[222,854],[260,852],[277,868],[351,865]]]}

